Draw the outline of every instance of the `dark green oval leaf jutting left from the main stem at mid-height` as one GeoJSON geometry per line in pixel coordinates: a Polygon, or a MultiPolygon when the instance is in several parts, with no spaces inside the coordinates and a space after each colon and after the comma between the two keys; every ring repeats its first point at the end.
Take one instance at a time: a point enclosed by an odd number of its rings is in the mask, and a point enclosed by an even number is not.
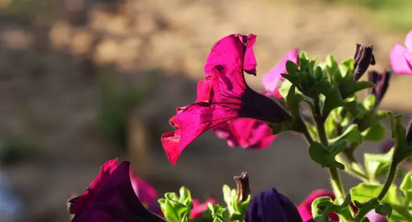
{"type": "Polygon", "coordinates": [[[345,169],[345,166],[343,166],[343,164],[339,162],[336,162],[334,155],[332,155],[332,153],[330,153],[330,151],[328,151],[325,146],[322,146],[322,144],[319,144],[318,142],[313,142],[312,144],[310,144],[309,155],[310,158],[314,160],[314,162],[317,162],[322,166],[326,166],[328,168],[336,167],[340,168],[341,170],[345,169]]]}

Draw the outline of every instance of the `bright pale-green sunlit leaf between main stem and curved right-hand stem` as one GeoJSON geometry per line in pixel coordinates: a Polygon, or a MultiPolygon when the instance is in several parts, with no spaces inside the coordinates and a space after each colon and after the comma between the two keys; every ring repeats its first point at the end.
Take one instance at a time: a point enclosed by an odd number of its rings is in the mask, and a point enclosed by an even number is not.
{"type": "Polygon", "coordinates": [[[372,181],[379,180],[382,176],[388,173],[392,157],[393,149],[385,154],[364,154],[363,158],[365,159],[365,169],[372,181]]]}

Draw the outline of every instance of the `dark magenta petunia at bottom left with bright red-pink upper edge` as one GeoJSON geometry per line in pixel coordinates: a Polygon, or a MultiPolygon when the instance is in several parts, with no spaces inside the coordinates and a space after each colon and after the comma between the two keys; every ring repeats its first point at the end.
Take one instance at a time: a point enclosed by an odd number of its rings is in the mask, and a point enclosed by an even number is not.
{"type": "Polygon", "coordinates": [[[164,221],[149,212],[135,195],[129,172],[130,162],[117,166],[112,159],[102,166],[83,195],[71,199],[72,222],[152,222],[164,221]]]}

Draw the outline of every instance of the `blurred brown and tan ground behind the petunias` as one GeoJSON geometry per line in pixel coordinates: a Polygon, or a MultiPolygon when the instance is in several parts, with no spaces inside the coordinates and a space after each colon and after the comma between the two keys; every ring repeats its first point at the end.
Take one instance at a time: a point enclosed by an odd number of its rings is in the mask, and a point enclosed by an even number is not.
{"type": "MultiPolygon", "coordinates": [[[[258,76],[247,82],[262,89],[293,47],[343,60],[356,43],[374,44],[371,69],[389,68],[411,28],[410,0],[0,0],[0,221],[69,221],[67,199],[115,157],[160,196],[187,186],[221,200],[222,185],[247,171],[254,194],[275,186],[299,204],[329,184],[295,135],[244,151],[209,132],[168,162],[159,138],[175,107],[194,102],[211,46],[258,34],[258,76]]],[[[411,84],[395,76],[382,109],[409,117],[411,84]]]]}

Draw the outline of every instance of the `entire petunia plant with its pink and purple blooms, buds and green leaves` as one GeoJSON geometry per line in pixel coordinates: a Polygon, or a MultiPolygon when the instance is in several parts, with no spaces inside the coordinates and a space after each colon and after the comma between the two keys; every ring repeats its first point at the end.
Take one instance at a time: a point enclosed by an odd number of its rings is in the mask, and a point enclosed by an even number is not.
{"type": "Polygon", "coordinates": [[[275,188],[251,194],[243,172],[234,177],[236,188],[223,186],[224,203],[200,203],[182,187],[156,204],[155,191],[130,173],[128,162],[117,166],[112,160],[83,195],[69,201],[73,222],[412,221],[412,174],[402,167],[411,161],[411,123],[404,126],[402,115],[379,109],[391,76],[412,74],[412,31],[406,47],[393,48],[392,69],[381,72],[369,70],[376,63],[373,45],[356,44],[353,58],[340,63],[332,55],[319,61],[293,49],[263,77],[264,91],[244,78],[257,75],[255,42],[254,34],[231,34],[211,48],[196,101],[177,108],[170,119],[174,131],[161,136],[168,159],[176,164],[209,130],[246,150],[266,148],[278,133],[293,131],[306,139],[308,158],[328,171],[331,190],[314,190],[296,206],[275,188]],[[382,141],[381,148],[365,153],[361,164],[354,153],[367,141],[382,141]],[[359,184],[345,188],[341,173],[359,184]]]}

